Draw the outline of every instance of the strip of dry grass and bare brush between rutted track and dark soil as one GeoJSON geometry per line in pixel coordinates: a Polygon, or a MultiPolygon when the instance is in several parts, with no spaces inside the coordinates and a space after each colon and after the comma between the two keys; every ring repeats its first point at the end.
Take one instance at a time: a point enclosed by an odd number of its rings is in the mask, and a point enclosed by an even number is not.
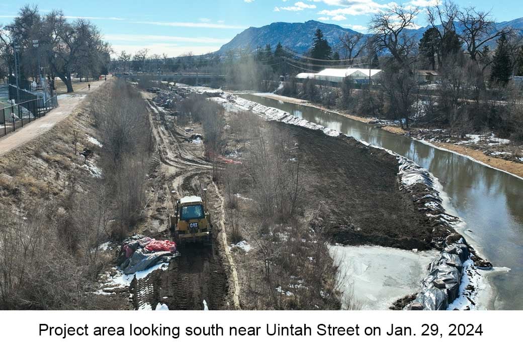
{"type": "Polygon", "coordinates": [[[308,178],[299,172],[292,137],[249,112],[229,114],[226,121],[228,144],[241,149],[243,162],[226,166],[220,176],[228,241],[252,247],[233,249],[242,308],[357,309],[350,295],[339,292],[321,227],[304,214],[310,208],[301,188],[308,178]]]}

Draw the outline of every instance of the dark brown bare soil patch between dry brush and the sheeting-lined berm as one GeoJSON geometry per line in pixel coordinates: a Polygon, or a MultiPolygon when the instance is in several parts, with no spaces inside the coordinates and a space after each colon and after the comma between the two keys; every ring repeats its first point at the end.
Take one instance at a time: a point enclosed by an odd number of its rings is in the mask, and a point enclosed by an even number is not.
{"type": "Polygon", "coordinates": [[[401,190],[397,159],[354,138],[272,122],[288,129],[300,145],[306,186],[325,232],[334,243],[400,249],[433,248],[432,228],[410,193],[401,190]]]}

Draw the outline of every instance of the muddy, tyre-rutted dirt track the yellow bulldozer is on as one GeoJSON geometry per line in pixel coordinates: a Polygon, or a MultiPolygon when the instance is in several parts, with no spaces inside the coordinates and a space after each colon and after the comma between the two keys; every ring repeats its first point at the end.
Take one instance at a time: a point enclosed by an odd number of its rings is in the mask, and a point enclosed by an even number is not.
{"type": "Polygon", "coordinates": [[[228,276],[220,245],[220,218],[223,215],[219,193],[212,183],[210,164],[203,158],[201,144],[186,141],[188,134],[168,121],[165,110],[149,102],[150,120],[157,144],[158,164],[150,190],[149,218],[144,231],[157,239],[170,239],[169,217],[179,197],[202,194],[207,189],[207,210],[213,222],[213,248],[187,245],[169,263],[167,270],[157,270],[131,284],[133,306],[143,309],[166,304],[170,310],[220,310],[228,308],[228,276]]]}

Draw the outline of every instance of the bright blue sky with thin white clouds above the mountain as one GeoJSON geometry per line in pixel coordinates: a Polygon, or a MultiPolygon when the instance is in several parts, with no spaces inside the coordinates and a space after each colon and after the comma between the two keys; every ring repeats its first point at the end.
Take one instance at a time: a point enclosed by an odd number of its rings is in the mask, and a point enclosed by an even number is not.
{"type": "MultiPolygon", "coordinates": [[[[437,0],[405,0],[426,6],[437,0]]],[[[461,6],[491,10],[498,21],[523,17],[520,0],[458,0],[461,6]],[[503,5],[501,5],[503,3],[503,5]]],[[[0,24],[12,20],[27,1],[0,4],[0,24]]],[[[148,48],[152,53],[171,56],[187,52],[216,51],[247,27],[261,27],[276,21],[319,20],[365,32],[371,16],[391,1],[382,0],[86,0],[32,1],[44,11],[62,9],[73,20],[85,17],[94,22],[116,52],[148,48]]],[[[418,18],[425,25],[424,16],[418,18]]]]}

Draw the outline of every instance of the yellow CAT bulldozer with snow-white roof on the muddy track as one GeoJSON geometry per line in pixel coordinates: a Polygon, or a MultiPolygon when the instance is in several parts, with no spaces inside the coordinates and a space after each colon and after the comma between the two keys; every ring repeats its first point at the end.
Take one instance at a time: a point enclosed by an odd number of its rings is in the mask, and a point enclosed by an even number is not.
{"type": "Polygon", "coordinates": [[[171,218],[171,234],[178,246],[188,242],[212,246],[212,224],[199,196],[185,196],[176,202],[171,218]]]}

